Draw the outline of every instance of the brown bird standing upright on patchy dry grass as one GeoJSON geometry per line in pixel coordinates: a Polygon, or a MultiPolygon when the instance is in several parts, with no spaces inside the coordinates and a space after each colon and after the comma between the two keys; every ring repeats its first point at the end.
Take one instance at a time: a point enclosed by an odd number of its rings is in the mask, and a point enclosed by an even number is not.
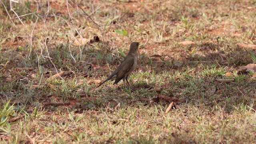
{"type": "Polygon", "coordinates": [[[114,84],[117,84],[120,80],[123,79],[124,87],[126,86],[125,80],[130,86],[130,83],[128,82],[129,74],[133,70],[135,70],[135,68],[138,64],[139,56],[140,56],[138,47],[139,47],[139,42],[132,42],[130,45],[130,50],[129,50],[127,56],[121,62],[121,64],[116,68],[116,70],[106,80],[104,80],[102,83],[100,83],[100,85],[98,85],[97,88],[99,86],[101,86],[102,84],[104,84],[106,81],[112,80],[114,78],[116,78],[116,81],[114,82],[114,84]]]}

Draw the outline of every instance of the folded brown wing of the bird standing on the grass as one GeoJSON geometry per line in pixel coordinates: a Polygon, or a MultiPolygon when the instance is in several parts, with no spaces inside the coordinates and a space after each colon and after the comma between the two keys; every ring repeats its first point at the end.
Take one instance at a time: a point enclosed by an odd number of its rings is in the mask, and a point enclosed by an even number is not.
{"type": "Polygon", "coordinates": [[[134,63],[134,57],[127,58],[122,64],[120,64],[119,71],[117,73],[116,81],[114,84],[117,84],[120,80],[127,75],[127,72],[132,68],[134,63]]]}

